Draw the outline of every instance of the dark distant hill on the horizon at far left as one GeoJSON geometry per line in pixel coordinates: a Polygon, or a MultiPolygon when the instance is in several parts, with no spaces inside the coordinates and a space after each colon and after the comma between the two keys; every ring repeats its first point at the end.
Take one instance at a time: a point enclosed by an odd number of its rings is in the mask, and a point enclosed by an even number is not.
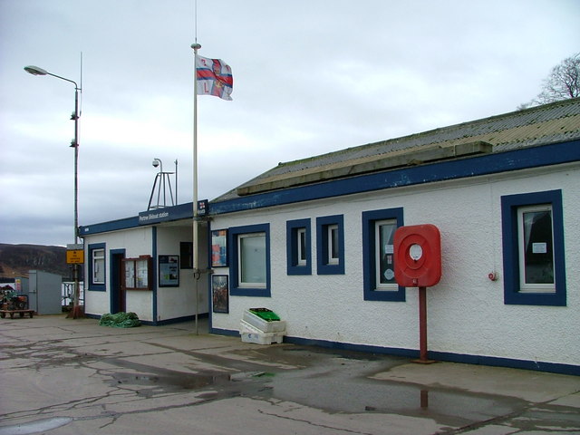
{"type": "Polygon", "coordinates": [[[73,276],[66,264],[66,247],[0,243],[0,279],[28,276],[28,271],[34,269],[63,275],[65,280],[73,276]]]}

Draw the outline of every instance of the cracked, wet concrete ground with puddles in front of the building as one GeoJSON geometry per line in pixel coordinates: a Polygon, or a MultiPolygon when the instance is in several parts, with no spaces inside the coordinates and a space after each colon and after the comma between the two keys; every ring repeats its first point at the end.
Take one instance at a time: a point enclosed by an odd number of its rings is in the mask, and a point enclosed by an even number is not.
{"type": "Polygon", "coordinates": [[[0,319],[0,435],[578,434],[580,377],[0,319]]]}

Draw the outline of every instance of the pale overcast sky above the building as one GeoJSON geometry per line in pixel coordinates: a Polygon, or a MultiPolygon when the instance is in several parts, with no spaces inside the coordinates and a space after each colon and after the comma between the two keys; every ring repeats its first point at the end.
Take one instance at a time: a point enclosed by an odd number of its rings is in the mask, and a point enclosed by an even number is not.
{"type": "Polygon", "coordinates": [[[578,0],[0,0],[0,243],[73,243],[147,209],[154,158],[192,200],[193,50],[233,101],[198,98],[198,198],[280,161],[515,111],[580,51],[578,0]]]}

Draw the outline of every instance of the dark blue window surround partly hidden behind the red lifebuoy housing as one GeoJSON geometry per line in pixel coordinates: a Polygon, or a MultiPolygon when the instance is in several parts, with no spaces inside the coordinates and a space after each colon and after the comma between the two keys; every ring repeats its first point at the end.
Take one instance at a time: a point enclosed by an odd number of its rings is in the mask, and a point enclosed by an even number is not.
{"type": "Polygon", "coordinates": [[[377,220],[395,219],[397,227],[402,227],[403,209],[385,208],[362,212],[362,288],[365,301],[405,302],[405,287],[399,285],[397,291],[376,290],[376,240],[374,222],[377,220]]]}

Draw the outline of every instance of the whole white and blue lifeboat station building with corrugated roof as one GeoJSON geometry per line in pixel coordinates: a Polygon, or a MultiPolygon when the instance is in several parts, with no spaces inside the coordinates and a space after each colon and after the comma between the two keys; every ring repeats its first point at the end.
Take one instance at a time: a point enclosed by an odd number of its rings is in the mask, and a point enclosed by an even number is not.
{"type": "Polygon", "coordinates": [[[267,307],[285,342],[416,357],[393,239],[430,224],[429,358],[580,374],[580,99],[280,163],[198,204],[195,244],[192,206],[81,227],[87,315],[238,335],[267,307]]]}

